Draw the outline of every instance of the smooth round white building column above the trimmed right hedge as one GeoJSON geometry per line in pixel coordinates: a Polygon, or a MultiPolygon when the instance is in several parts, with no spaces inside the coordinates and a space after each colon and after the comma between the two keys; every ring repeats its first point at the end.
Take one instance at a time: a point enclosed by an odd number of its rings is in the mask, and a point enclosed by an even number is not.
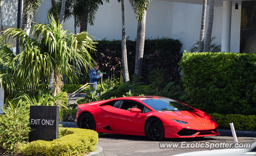
{"type": "Polygon", "coordinates": [[[230,52],[232,2],[223,1],[221,51],[230,52]]]}

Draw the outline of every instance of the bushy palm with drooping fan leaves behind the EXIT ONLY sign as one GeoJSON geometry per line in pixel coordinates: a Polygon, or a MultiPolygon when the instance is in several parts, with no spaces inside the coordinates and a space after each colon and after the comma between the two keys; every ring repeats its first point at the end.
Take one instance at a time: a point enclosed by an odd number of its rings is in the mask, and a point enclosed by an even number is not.
{"type": "Polygon", "coordinates": [[[36,91],[40,76],[49,77],[53,69],[55,96],[61,91],[63,74],[71,82],[78,79],[77,75],[73,74],[72,65],[68,63],[72,58],[79,61],[86,71],[92,67],[92,57],[89,52],[94,51],[95,42],[87,32],[75,35],[68,33],[67,30],[62,30],[62,25],[56,23],[53,17],[51,18],[48,18],[48,25],[35,24],[32,27],[33,38],[23,30],[9,28],[4,31],[0,42],[16,37],[20,38],[19,44],[22,47],[22,52],[13,59],[14,61],[18,60],[15,63],[14,75],[22,80],[20,85],[29,85],[31,92],[36,91]],[[41,39],[39,38],[40,34],[42,35],[41,39]],[[37,41],[38,39],[40,41],[37,41]]]}

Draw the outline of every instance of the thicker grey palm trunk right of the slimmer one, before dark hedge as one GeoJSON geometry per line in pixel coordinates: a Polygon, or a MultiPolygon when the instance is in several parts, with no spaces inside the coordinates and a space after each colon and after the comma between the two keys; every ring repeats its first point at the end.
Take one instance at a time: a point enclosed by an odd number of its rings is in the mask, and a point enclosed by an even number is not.
{"type": "Polygon", "coordinates": [[[142,22],[138,22],[138,27],[137,27],[136,56],[135,56],[135,68],[134,68],[135,81],[139,81],[141,76],[141,70],[142,70],[142,59],[143,59],[144,42],[145,42],[146,13],[147,11],[144,10],[142,22]]]}

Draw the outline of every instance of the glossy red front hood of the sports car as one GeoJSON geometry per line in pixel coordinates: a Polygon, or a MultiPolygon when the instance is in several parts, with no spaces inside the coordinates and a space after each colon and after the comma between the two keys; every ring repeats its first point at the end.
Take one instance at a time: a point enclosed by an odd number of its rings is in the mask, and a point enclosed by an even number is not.
{"type": "Polygon", "coordinates": [[[217,123],[211,120],[210,115],[197,109],[191,111],[162,111],[161,113],[171,119],[188,122],[188,124],[184,124],[186,128],[198,129],[200,127],[200,129],[206,130],[217,127],[217,123]]]}

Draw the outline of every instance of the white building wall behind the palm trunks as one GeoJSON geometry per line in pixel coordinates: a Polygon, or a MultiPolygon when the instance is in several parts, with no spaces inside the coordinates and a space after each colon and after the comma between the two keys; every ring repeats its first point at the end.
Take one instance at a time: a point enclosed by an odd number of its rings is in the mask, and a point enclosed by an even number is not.
{"type": "MultiPolygon", "coordinates": [[[[17,0],[2,0],[2,17],[4,26],[17,26],[17,0]]],[[[135,40],[137,22],[128,0],[124,1],[126,36],[135,40]]],[[[50,0],[44,0],[35,17],[38,23],[48,23],[47,11],[50,0]]],[[[152,0],[146,16],[146,38],[171,37],[182,43],[181,51],[188,50],[199,39],[202,5],[152,0]]],[[[207,13],[208,15],[208,13],[207,13]]],[[[241,6],[238,10],[232,5],[231,45],[230,51],[238,52],[240,47],[241,6]]],[[[94,26],[88,25],[88,32],[98,39],[121,39],[121,4],[116,0],[104,3],[96,14],[94,26]]],[[[206,23],[207,23],[206,19],[206,23]]],[[[73,18],[64,23],[64,29],[74,32],[73,18]]],[[[207,25],[206,25],[207,28],[207,25]]],[[[77,28],[79,32],[79,28],[77,28]]],[[[206,32],[205,32],[206,34],[206,32]]],[[[221,44],[222,6],[214,8],[214,25],[212,36],[214,43],[221,44]]]]}

